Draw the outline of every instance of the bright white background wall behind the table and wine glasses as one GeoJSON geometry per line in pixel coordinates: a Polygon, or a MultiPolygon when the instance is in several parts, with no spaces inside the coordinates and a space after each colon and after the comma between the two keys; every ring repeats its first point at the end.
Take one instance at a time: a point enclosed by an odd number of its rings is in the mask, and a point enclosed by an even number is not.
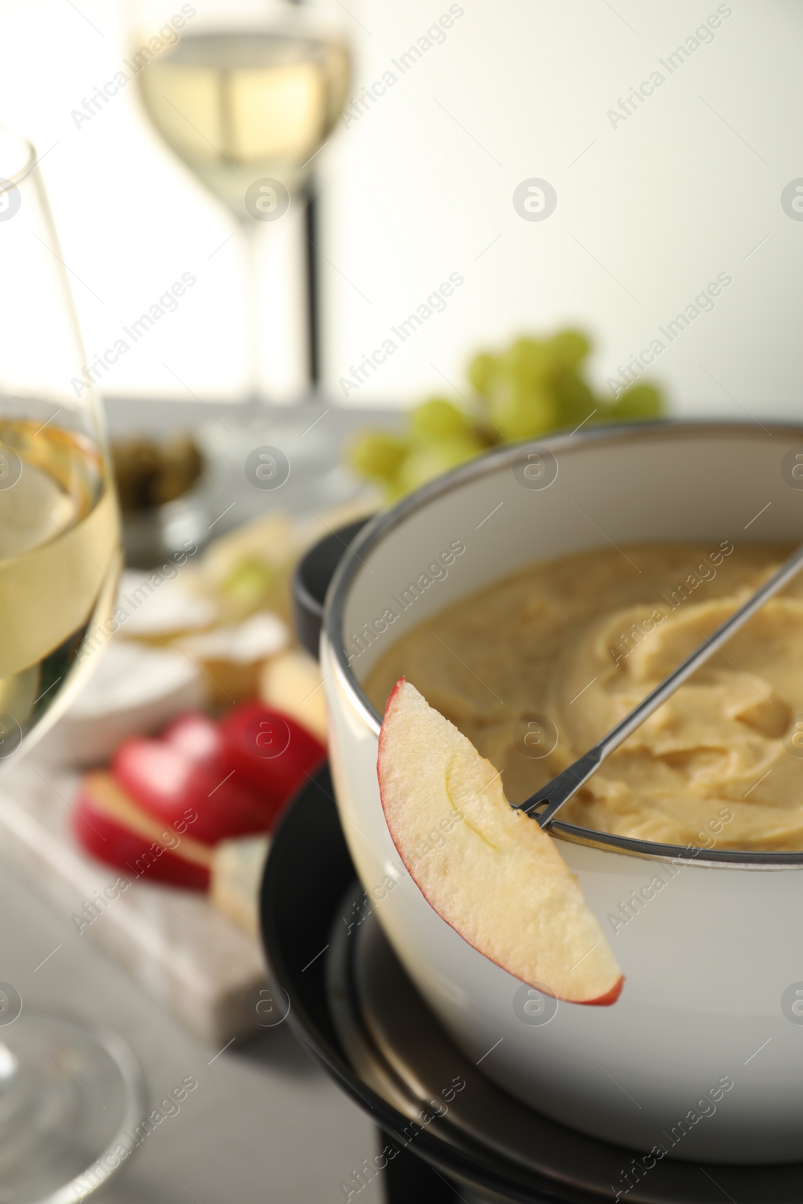
{"type": "MultiPolygon", "coordinates": [[[[339,6],[342,8],[342,6],[339,6]]],[[[391,65],[445,0],[347,0],[358,95],[398,77],[341,126],[321,158],[326,383],[380,346],[450,272],[465,284],[350,402],[460,388],[466,359],[522,330],[574,321],[596,341],[600,383],[727,272],[732,285],[655,365],[681,412],[798,412],[803,222],[780,205],[803,176],[797,0],[732,0],[710,45],[673,76],[659,64],[714,0],[461,0],[445,41],[406,73],[391,65]],[[613,128],[607,111],[650,72],[667,76],[613,128]],[[525,222],[522,179],[555,213],[525,222]],[[441,374],[443,373],[443,376],[441,374]]],[[[107,391],[235,396],[244,373],[242,261],[234,224],[150,134],[135,84],[81,129],[70,111],[128,53],[130,12],[111,0],[0,6],[0,114],[42,150],[90,352],[182,272],[197,285],[107,379],[107,391]],[[49,147],[53,149],[49,149],[49,147]],[[222,246],[225,242],[224,246],[222,246]],[[220,249],[217,249],[220,248],[220,249]],[[167,365],[165,367],[164,365],[167,365]],[[173,374],[175,373],[175,374],[173,374]]],[[[266,327],[287,348],[284,231],[266,248],[266,327]]],[[[273,232],[271,230],[271,232],[273,232]]],[[[662,337],[663,336],[657,336],[662,337]]],[[[663,338],[663,342],[667,342],[663,338]]],[[[300,352],[271,349],[284,394],[300,352]]]]}

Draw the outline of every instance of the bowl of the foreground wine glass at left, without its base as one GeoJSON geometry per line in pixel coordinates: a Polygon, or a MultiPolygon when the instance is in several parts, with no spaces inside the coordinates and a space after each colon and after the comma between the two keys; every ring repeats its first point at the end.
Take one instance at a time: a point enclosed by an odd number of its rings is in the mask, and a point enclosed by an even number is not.
{"type": "MultiPolygon", "coordinates": [[[[111,613],[117,500],[34,148],[0,131],[0,759],[53,722],[111,613]]],[[[104,366],[105,367],[105,366],[104,366]]]]}

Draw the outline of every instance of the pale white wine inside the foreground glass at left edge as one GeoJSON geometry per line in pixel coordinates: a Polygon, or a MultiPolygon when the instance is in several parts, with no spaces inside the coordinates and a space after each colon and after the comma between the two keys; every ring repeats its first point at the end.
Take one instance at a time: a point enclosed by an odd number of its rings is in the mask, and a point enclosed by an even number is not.
{"type": "Polygon", "coordinates": [[[58,716],[117,583],[104,456],[79,429],[43,426],[41,403],[0,395],[0,756],[58,716]]]}

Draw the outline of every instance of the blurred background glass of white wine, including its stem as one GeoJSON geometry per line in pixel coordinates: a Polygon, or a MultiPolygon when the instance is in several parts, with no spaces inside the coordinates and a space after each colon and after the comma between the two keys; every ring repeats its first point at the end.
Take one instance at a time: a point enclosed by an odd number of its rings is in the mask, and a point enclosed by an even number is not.
{"type": "Polygon", "coordinates": [[[161,0],[143,0],[129,67],[159,134],[240,223],[248,395],[259,400],[258,240],[305,195],[348,93],[349,51],[320,10],[281,0],[199,0],[195,8],[171,17],[161,0]]]}

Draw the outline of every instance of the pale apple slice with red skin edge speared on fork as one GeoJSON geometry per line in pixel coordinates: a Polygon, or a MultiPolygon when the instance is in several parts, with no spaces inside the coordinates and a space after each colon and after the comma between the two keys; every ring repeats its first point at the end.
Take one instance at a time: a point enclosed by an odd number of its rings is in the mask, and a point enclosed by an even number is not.
{"type": "Polygon", "coordinates": [[[382,805],[411,877],[447,923],[524,982],[615,1003],[624,978],[577,879],[500,774],[402,678],[379,736],[382,805]]]}

